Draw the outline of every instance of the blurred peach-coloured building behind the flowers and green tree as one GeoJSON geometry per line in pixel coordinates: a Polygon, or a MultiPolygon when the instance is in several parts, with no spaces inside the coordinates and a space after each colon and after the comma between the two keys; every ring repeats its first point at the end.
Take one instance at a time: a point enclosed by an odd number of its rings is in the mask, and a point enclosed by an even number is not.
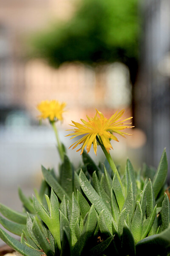
{"type": "Polygon", "coordinates": [[[87,109],[94,114],[95,108],[105,112],[129,108],[130,76],[123,64],[108,65],[96,76],[91,67],[82,64],[64,64],[53,69],[43,61],[26,58],[29,35],[45,28],[54,17],[68,19],[74,12],[73,2],[0,1],[1,120],[14,109],[25,109],[35,117],[35,106],[45,99],[67,102],[74,119],[85,116],[87,109]]]}

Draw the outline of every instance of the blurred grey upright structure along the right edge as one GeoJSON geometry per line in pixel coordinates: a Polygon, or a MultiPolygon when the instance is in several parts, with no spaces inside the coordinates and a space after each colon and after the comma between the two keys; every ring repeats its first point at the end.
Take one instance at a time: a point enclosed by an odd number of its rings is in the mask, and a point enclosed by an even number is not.
{"type": "Polygon", "coordinates": [[[141,7],[144,34],[135,124],[147,134],[147,163],[157,166],[165,147],[170,160],[170,1],[141,1],[141,7]]]}

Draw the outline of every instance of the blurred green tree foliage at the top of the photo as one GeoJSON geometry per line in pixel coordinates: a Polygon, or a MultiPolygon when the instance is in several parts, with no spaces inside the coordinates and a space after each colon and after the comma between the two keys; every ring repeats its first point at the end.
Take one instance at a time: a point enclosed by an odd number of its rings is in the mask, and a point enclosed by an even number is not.
{"type": "Polygon", "coordinates": [[[137,0],[81,0],[70,20],[34,37],[34,53],[58,67],[65,61],[95,65],[138,57],[137,0]]]}

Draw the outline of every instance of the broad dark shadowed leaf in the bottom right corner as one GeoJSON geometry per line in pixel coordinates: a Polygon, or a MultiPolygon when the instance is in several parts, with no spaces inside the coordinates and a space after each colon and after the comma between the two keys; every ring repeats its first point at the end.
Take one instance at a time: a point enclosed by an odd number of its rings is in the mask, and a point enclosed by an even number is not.
{"type": "Polygon", "coordinates": [[[148,236],[136,244],[136,255],[143,256],[149,251],[153,256],[166,256],[170,252],[170,225],[163,232],[148,236]]]}

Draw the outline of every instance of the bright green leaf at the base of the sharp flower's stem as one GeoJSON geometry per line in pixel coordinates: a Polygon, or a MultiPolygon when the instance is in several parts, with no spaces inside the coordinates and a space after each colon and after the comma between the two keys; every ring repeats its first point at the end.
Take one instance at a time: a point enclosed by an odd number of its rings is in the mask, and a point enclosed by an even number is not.
{"type": "Polygon", "coordinates": [[[116,196],[116,201],[119,205],[119,210],[122,210],[122,207],[125,203],[125,196],[123,192],[123,186],[122,186],[122,181],[120,179],[119,173],[116,171],[115,175],[113,177],[113,191],[116,196]]]}

